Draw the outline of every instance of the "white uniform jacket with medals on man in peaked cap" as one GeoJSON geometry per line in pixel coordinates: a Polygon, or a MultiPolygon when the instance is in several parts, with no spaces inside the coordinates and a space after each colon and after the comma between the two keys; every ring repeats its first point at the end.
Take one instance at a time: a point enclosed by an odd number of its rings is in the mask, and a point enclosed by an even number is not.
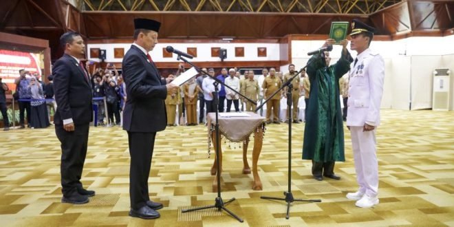
{"type": "Polygon", "coordinates": [[[380,102],[385,80],[382,56],[369,48],[359,54],[349,72],[347,126],[380,125],[380,102]]]}

